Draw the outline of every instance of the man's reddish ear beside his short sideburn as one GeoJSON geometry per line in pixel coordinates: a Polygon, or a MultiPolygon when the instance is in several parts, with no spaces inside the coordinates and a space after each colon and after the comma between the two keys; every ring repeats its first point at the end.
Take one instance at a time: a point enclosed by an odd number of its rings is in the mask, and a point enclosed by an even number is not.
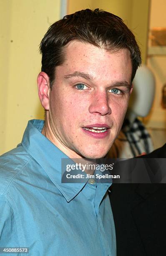
{"type": "Polygon", "coordinates": [[[38,95],[41,105],[45,110],[49,110],[49,94],[50,94],[50,80],[48,74],[40,72],[38,74],[38,95]]]}

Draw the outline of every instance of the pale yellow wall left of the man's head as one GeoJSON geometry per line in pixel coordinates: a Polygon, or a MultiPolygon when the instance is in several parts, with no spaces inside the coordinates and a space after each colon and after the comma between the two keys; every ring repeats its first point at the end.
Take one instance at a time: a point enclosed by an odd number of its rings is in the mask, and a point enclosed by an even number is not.
{"type": "Polygon", "coordinates": [[[38,45],[59,16],[60,0],[0,0],[0,154],[20,143],[28,120],[43,118],[38,45]]]}

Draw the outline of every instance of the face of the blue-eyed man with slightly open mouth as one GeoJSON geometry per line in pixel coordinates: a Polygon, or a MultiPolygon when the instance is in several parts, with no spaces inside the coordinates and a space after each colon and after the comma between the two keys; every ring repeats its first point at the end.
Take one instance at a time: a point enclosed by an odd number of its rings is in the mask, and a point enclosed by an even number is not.
{"type": "Polygon", "coordinates": [[[48,138],[71,158],[101,158],[117,137],[131,92],[130,53],[72,41],[49,92],[48,138]]]}

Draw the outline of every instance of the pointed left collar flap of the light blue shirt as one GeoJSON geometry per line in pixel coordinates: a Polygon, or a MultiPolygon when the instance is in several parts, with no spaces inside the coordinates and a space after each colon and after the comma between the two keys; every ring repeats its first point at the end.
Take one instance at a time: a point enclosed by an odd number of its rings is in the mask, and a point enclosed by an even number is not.
{"type": "Polygon", "coordinates": [[[61,159],[69,157],[41,133],[43,125],[43,120],[30,120],[21,144],[44,169],[66,201],[70,202],[85,186],[87,180],[85,179],[84,183],[61,183],[61,159]]]}

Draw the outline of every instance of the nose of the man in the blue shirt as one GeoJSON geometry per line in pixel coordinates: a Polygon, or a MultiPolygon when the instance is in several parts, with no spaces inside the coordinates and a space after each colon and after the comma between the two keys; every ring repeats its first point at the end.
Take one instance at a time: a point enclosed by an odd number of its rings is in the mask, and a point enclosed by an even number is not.
{"type": "Polygon", "coordinates": [[[89,106],[90,113],[98,113],[99,115],[110,115],[111,108],[108,102],[108,95],[106,92],[96,92],[91,98],[89,106]]]}

